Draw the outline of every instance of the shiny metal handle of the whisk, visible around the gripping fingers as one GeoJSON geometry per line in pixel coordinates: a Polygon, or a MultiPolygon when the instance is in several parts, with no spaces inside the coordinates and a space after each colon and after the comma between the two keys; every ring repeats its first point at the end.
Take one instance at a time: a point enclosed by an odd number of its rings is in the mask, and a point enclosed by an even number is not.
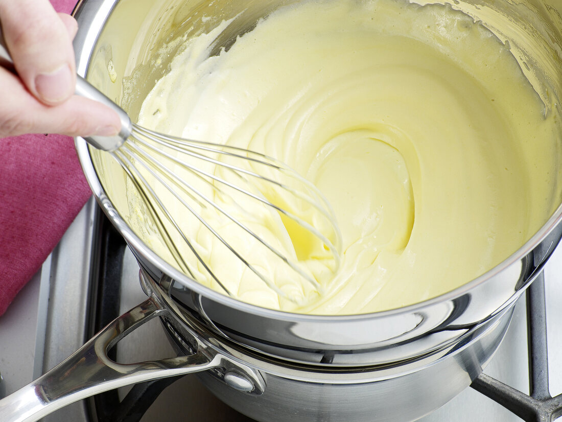
{"type": "MultiPolygon", "coordinates": [[[[0,66],[7,67],[13,70],[13,61],[10,52],[6,48],[6,42],[4,42],[4,37],[2,35],[2,25],[0,25],[0,66]]],[[[76,77],[76,95],[81,97],[93,99],[94,101],[101,102],[108,107],[113,108],[121,119],[121,131],[114,137],[87,137],[84,138],[86,142],[92,145],[94,148],[103,149],[104,151],[113,151],[123,145],[123,142],[129,137],[131,131],[133,130],[133,124],[129,115],[123,110],[123,108],[117,106],[111,99],[107,98],[102,94],[97,88],[94,88],[80,75],[76,77]]]]}

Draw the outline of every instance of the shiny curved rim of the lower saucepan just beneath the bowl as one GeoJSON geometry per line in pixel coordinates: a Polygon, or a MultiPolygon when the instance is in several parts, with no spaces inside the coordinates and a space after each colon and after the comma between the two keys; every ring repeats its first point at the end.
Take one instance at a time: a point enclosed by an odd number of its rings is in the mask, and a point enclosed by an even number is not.
{"type": "MultiPolygon", "coordinates": [[[[143,276],[141,275],[141,277],[143,276]]],[[[229,359],[238,362],[238,364],[248,365],[259,371],[265,370],[268,374],[288,376],[303,382],[377,382],[404,376],[436,365],[439,361],[446,360],[458,353],[464,353],[467,348],[474,346],[475,342],[482,341],[483,338],[492,334],[489,339],[490,343],[487,343],[486,346],[481,343],[483,347],[479,359],[483,360],[478,361],[478,365],[483,367],[486,364],[485,361],[491,359],[504,338],[515,309],[515,304],[512,303],[511,306],[505,307],[504,310],[490,319],[464,332],[455,342],[443,344],[443,347],[429,351],[424,355],[413,356],[405,360],[392,360],[383,364],[367,360],[364,362],[357,361],[353,365],[337,365],[323,362],[291,361],[284,357],[271,356],[259,350],[252,350],[245,345],[234,343],[228,338],[217,338],[213,330],[206,324],[201,324],[193,319],[185,319],[155,280],[144,278],[143,283],[148,287],[153,300],[169,312],[169,316],[162,320],[162,324],[169,334],[169,338],[178,347],[180,354],[192,353],[193,349],[200,347],[202,342],[206,347],[214,348],[216,352],[228,356],[229,359]]],[[[474,370],[473,372],[479,373],[479,371],[474,370]]]]}

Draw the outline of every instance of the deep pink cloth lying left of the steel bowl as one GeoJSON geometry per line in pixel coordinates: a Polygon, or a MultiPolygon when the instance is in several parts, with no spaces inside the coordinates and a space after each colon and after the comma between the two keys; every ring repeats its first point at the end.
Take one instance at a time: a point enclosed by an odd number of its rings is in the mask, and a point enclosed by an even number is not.
{"type": "MultiPolygon", "coordinates": [[[[70,13],[76,0],[51,0],[70,13]]],[[[39,270],[88,200],[72,138],[0,139],[0,315],[39,270]]]]}

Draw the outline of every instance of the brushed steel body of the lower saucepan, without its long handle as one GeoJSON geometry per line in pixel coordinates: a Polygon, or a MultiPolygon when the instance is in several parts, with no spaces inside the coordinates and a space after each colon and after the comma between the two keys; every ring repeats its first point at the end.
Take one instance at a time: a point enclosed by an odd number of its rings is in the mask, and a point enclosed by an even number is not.
{"type": "Polygon", "coordinates": [[[197,339],[219,346],[238,365],[247,365],[250,372],[226,367],[198,376],[229,406],[262,422],[418,419],[451,400],[482,372],[504,337],[514,308],[510,305],[457,341],[415,359],[387,365],[295,364],[216,337],[208,324],[185,317],[158,283],[144,278],[144,286],[170,312],[165,327],[178,353],[193,350],[183,339],[196,333],[197,339]]]}

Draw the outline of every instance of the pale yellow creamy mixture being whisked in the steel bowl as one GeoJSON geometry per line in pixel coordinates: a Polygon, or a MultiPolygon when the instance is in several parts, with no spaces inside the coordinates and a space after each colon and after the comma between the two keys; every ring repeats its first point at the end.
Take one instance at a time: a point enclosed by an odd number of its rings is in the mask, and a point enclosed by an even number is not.
{"type": "MultiPolygon", "coordinates": [[[[312,298],[297,305],[189,220],[188,237],[241,300],[330,315],[423,301],[504,260],[558,205],[558,116],[545,117],[509,46],[462,13],[401,0],[305,1],[208,57],[228,24],[185,43],[139,124],[284,161],[328,198],[342,233],[335,273],[325,254],[321,265],[314,252],[306,258],[322,295],[287,280],[281,264],[264,269],[312,298]]],[[[122,214],[175,264],[134,196],[122,214]]],[[[283,230],[281,220],[273,232],[260,217],[248,224],[271,238],[283,230]]]]}

